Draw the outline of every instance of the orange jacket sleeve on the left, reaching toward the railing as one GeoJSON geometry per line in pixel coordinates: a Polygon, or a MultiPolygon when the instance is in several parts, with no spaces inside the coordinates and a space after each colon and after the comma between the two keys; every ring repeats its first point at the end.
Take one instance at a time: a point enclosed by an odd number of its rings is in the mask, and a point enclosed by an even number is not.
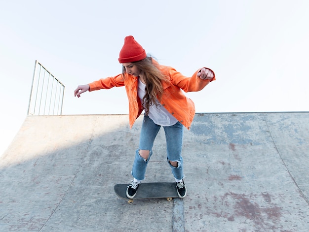
{"type": "Polygon", "coordinates": [[[104,79],[100,79],[89,83],[90,89],[89,92],[100,89],[111,89],[113,87],[124,86],[124,79],[121,74],[116,75],[114,77],[107,77],[104,79]]]}

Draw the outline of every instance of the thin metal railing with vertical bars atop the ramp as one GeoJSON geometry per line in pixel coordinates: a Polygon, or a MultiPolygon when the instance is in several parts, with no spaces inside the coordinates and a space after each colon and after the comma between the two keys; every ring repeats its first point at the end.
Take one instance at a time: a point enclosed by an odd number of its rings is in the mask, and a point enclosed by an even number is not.
{"type": "Polygon", "coordinates": [[[36,61],[28,115],[61,115],[64,85],[36,61]]]}

